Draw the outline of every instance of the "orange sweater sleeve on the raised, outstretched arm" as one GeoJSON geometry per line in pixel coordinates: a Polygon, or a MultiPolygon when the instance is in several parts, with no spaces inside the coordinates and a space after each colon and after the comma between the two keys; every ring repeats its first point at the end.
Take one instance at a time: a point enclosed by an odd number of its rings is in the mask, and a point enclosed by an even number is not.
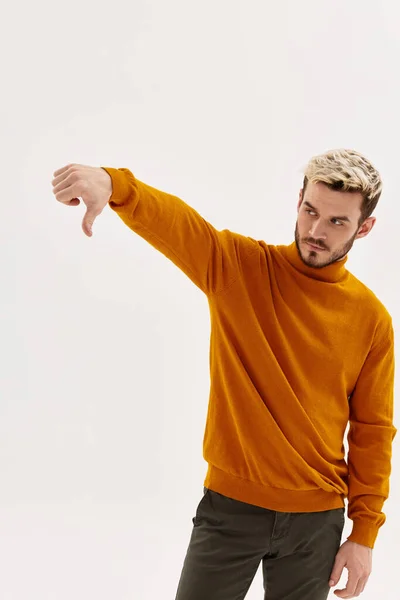
{"type": "Polygon", "coordinates": [[[207,295],[233,283],[242,261],[257,250],[256,240],[217,231],[183,200],[139,181],[128,169],[102,169],[112,179],[109,206],[207,295]]]}

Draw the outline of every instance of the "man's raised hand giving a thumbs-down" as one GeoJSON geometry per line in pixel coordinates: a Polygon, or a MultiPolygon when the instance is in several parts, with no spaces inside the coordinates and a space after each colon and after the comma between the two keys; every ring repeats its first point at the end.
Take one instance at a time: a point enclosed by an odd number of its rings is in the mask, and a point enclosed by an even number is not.
{"type": "Polygon", "coordinates": [[[82,229],[91,237],[94,220],[112,195],[110,175],[101,167],[74,164],[55,171],[54,176],[53,194],[59,202],[68,206],[78,206],[80,196],[86,204],[87,211],[82,221],[82,229]]]}

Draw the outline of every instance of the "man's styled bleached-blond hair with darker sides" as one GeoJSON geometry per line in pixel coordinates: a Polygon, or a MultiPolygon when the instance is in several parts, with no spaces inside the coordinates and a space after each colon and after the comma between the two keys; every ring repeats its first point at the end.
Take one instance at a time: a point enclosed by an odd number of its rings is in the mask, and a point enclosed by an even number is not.
{"type": "Polygon", "coordinates": [[[360,192],[363,196],[358,225],[371,216],[382,193],[382,179],[370,161],[355,150],[339,148],[313,156],[305,169],[303,194],[307,183],[324,183],[331,190],[360,192]]]}

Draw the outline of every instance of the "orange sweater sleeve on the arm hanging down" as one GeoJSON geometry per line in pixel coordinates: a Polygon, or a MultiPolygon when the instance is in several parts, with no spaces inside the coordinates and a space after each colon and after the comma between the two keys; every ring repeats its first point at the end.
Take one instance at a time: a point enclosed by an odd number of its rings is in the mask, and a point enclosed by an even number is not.
{"type": "Polygon", "coordinates": [[[382,507],[389,496],[392,441],[397,433],[393,425],[394,369],[390,319],[377,328],[350,398],[348,517],[353,520],[353,530],[348,539],[370,548],[386,520],[382,507]]]}

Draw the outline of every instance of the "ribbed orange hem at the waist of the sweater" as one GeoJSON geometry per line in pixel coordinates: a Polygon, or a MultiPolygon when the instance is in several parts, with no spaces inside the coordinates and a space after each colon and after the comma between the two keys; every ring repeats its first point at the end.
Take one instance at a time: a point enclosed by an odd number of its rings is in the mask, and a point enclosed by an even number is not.
{"type": "Polygon", "coordinates": [[[228,498],[277,512],[322,512],[345,506],[343,494],[320,488],[302,491],[267,487],[225,473],[213,465],[208,466],[204,486],[228,498]]]}

